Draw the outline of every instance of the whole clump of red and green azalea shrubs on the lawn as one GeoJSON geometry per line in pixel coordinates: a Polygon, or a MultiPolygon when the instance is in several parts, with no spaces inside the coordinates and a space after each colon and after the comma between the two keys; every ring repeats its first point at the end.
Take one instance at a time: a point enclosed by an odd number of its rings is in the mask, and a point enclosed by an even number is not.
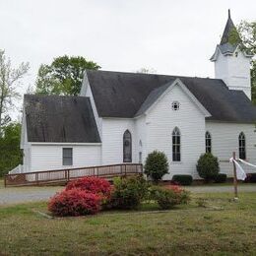
{"type": "Polygon", "coordinates": [[[156,201],[161,209],[188,203],[190,196],[178,185],[165,188],[150,185],[143,176],[114,178],[113,185],[102,178],[86,177],[68,183],[48,203],[56,217],[94,215],[101,209],[137,209],[142,202],[156,201]]]}

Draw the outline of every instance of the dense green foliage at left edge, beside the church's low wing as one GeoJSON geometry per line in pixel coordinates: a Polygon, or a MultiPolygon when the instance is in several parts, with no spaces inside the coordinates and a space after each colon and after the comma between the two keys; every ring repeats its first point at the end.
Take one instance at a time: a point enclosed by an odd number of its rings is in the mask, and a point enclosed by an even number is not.
{"type": "Polygon", "coordinates": [[[22,162],[21,124],[11,122],[3,127],[2,133],[3,136],[0,138],[0,176],[22,162]]]}

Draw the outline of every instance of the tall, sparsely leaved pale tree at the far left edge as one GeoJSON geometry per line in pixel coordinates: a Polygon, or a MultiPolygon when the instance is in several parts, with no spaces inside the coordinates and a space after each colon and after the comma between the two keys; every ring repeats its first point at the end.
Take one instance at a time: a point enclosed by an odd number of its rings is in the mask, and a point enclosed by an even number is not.
{"type": "Polygon", "coordinates": [[[0,49],[0,137],[3,126],[11,121],[8,114],[14,106],[14,99],[21,97],[17,88],[29,68],[28,62],[23,62],[18,68],[12,68],[11,60],[6,59],[5,51],[0,49]]]}

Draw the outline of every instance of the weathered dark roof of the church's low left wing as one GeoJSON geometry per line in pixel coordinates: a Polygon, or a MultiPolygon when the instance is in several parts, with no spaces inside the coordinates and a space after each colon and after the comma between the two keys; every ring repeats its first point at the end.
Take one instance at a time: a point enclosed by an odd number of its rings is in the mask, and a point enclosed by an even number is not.
{"type": "Polygon", "coordinates": [[[89,97],[24,97],[29,142],[100,143],[89,97]]]}

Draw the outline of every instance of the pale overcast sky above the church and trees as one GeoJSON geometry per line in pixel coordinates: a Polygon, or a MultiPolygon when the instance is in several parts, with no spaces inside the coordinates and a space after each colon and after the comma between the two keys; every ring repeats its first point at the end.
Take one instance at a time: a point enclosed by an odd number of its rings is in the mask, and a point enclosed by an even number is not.
{"type": "Polygon", "coordinates": [[[0,0],[0,49],[13,66],[30,62],[22,94],[64,54],[102,70],[214,77],[228,9],[236,25],[256,20],[255,0],[0,0]]]}

